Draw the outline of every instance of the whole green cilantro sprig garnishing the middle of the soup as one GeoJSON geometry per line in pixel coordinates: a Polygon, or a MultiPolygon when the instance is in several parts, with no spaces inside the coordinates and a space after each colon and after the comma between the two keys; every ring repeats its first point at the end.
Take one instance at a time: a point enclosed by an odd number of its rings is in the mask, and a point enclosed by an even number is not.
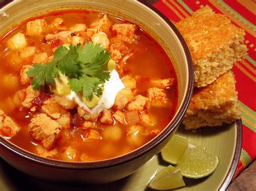
{"type": "Polygon", "coordinates": [[[81,44],[70,44],[69,48],[61,45],[53,56],[53,61],[44,65],[37,63],[26,72],[33,77],[33,89],[54,85],[60,72],[70,78],[70,88],[76,93],[82,91],[87,100],[92,100],[93,94],[102,95],[100,86],[110,78],[107,68],[110,53],[105,48],[92,42],[86,43],[84,49],[81,44]]]}

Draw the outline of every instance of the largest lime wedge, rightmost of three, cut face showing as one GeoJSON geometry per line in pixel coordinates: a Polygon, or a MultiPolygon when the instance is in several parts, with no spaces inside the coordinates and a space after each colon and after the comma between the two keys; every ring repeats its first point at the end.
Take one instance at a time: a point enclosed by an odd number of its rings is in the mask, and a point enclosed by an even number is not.
{"type": "Polygon", "coordinates": [[[205,152],[201,147],[188,143],[187,150],[177,168],[183,176],[192,179],[203,178],[213,173],[219,164],[219,158],[205,152]]]}

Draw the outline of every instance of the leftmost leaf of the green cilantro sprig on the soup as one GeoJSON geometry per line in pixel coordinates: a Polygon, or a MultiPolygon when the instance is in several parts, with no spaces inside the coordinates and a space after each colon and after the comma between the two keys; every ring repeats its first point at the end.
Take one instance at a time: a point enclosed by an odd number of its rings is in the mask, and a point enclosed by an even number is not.
{"type": "Polygon", "coordinates": [[[26,74],[29,77],[33,77],[32,87],[38,90],[39,87],[44,86],[44,83],[51,85],[54,84],[55,77],[57,77],[58,69],[56,67],[56,61],[49,62],[46,65],[37,63],[33,65],[33,68],[29,68],[26,74]]]}

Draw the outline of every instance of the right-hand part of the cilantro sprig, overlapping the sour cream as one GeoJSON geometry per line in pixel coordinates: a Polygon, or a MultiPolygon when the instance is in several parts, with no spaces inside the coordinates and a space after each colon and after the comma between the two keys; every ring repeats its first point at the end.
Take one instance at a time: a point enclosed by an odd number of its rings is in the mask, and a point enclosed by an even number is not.
{"type": "Polygon", "coordinates": [[[93,94],[102,95],[102,88],[99,84],[109,80],[110,73],[107,68],[107,61],[110,59],[110,53],[99,44],[89,42],[82,46],[78,45],[78,61],[82,67],[83,75],[77,79],[70,79],[70,87],[73,91],[83,91],[84,97],[91,100],[93,94]]]}

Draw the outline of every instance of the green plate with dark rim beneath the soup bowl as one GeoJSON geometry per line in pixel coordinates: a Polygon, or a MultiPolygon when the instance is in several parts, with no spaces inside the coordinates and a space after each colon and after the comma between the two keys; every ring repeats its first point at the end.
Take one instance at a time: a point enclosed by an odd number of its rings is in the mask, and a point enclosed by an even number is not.
{"type": "MultiPolygon", "coordinates": [[[[217,169],[210,176],[197,180],[184,178],[186,187],[180,190],[225,190],[239,161],[242,143],[241,120],[230,125],[200,129],[196,133],[186,131],[180,126],[177,134],[186,137],[191,143],[205,147],[207,152],[218,156],[220,160],[217,169]]],[[[68,186],[33,179],[0,159],[0,190],[151,190],[147,188],[147,183],[154,174],[168,165],[158,154],[139,171],[122,180],[106,185],[68,186]]]]}

